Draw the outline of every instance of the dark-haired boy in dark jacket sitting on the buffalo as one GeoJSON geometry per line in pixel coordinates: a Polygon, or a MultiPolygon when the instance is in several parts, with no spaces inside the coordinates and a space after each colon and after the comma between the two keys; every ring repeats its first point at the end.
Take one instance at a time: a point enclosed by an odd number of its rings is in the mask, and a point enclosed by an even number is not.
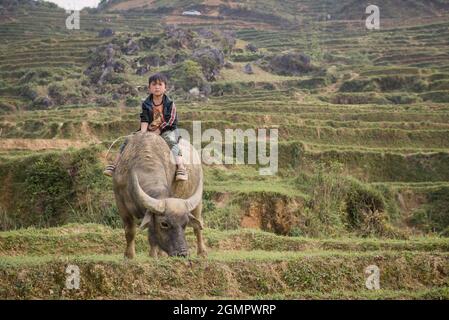
{"type": "MultiPolygon", "coordinates": [[[[167,90],[167,78],[156,73],[148,80],[150,95],[142,103],[142,112],[140,113],[140,130],[142,132],[151,131],[161,135],[167,142],[170,150],[176,160],[176,180],[186,181],[188,179],[187,170],[182,161],[181,149],[176,141],[175,130],[178,124],[178,115],[176,113],[175,103],[165,94],[167,90]]],[[[107,176],[112,176],[115,166],[120,160],[120,156],[125,149],[128,140],[120,146],[120,152],[117,154],[114,164],[108,165],[103,172],[107,176]]]]}

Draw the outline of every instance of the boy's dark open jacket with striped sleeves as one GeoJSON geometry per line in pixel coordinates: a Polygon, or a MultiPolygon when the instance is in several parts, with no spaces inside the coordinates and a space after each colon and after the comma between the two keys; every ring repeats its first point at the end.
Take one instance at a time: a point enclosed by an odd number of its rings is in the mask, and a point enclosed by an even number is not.
{"type": "MultiPolygon", "coordinates": [[[[178,114],[176,112],[175,102],[166,94],[162,97],[164,122],[161,124],[161,133],[167,130],[175,130],[178,125],[178,114]]],[[[140,122],[153,122],[153,94],[150,94],[142,103],[142,112],[140,113],[140,122]]]]}

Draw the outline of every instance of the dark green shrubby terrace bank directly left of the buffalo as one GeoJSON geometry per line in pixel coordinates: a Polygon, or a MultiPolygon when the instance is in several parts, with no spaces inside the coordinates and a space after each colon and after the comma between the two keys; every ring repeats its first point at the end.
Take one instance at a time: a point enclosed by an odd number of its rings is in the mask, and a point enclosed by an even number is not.
{"type": "Polygon", "coordinates": [[[51,152],[0,165],[0,224],[51,227],[67,222],[121,225],[100,147],[51,152]]]}

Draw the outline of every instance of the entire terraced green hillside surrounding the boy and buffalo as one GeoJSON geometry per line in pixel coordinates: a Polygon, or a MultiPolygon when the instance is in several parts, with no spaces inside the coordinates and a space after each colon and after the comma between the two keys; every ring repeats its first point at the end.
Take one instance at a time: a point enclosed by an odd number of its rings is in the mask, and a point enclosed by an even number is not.
{"type": "Polygon", "coordinates": [[[109,1],[68,30],[55,5],[3,1],[0,297],[447,299],[449,2],[378,1],[375,31],[366,3],[109,1]],[[191,233],[190,264],[147,257],[143,233],[122,260],[102,171],[154,72],[190,133],[279,130],[276,175],[203,166],[206,261],[191,233]]]}

